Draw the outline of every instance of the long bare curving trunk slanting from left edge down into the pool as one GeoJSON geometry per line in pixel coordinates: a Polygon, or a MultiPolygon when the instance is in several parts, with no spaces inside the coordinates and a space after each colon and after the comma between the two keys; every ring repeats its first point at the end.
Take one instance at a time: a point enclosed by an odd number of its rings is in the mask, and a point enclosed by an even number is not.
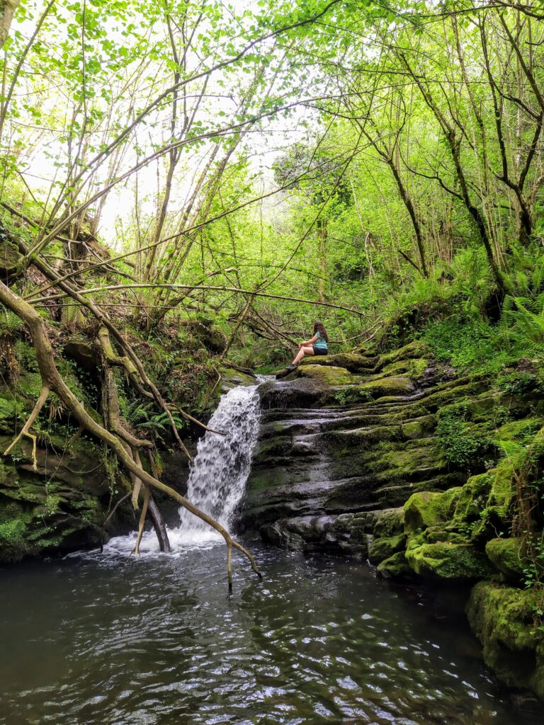
{"type": "Polygon", "coordinates": [[[65,381],[62,380],[54,362],[54,353],[51,347],[51,342],[49,341],[49,336],[47,335],[46,322],[44,318],[38,314],[34,307],[29,305],[28,302],[25,302],[24,299],[15,294],[1,281],[0,302],[8,307],[9,310],[15,312],[15,314],[18,315],[30,329],[44,389],[46,388],[48,391],[51,390],[57,393],[62,402],[65,403],[67,409],[70,410],[72,415],[75,417],[76,421],[86,428],[89,433],[104,442],[104,444],[106,444],[107,447],[115,453],[121,465],[123,465],[129,473],[133,473],[137,478],[141,479],[143,484],[150,486],[153,489],[165,492],[165,494],[168,494],[171,498],[176,500],[190,513],[197,516],[197,518],[202,521],[205,521],[205,523],[215,529],[215,531],[218,531],[227,545],[227,555],[231,548],[234,547],[234,549],[242,552],[242,554],[247,557],[250,561],[252,570],[255,571],[258,576],[261,576],[257,564],[255,563],[255,558],[242,546],[242,544],[239,544],[232,539],[231,535],[228,534],[228,531],[221,526],[221,523],[218,523],[218,521],[215,521],[215,519],[201,511],[184,496],[181,496],[181,494],[177,491],[170,488],[170,486],[163,484],[162,481],[159,481],[154,476],[147,473],[147,471],[145,471],[141,465],[138,465],[131,455],[125,450],[126,444],[118,435],[108,431],[104,428],[104,426],[100,425],[100,423],[97,423],[94,418],[91,418],[91,415],[87,413],[81,402],[79,402],[70,388],[68,388],[65,381]]]}

